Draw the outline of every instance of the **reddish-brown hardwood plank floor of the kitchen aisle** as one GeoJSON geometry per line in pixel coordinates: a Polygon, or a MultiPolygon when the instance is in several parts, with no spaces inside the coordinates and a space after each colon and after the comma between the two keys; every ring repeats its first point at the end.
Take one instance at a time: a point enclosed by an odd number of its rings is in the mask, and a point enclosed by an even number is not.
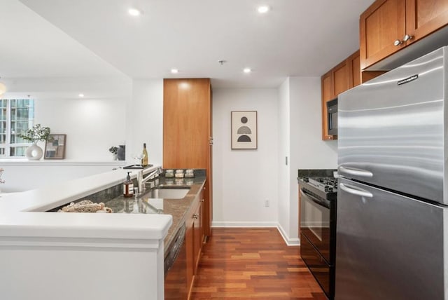
{"type": "Polygon", "coordinates": [[[274,228],[214,228],[190,299],[326,300],[321,287],[274,228]]]}

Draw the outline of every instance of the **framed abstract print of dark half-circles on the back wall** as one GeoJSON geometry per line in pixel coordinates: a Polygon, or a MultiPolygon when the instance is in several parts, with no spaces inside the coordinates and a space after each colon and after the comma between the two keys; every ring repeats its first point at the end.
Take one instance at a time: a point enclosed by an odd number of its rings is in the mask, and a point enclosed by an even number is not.
{"type": "Polygon", "coordinates": [[[258,149],[257,111],[231,111],[232,150],[258,149]]]}

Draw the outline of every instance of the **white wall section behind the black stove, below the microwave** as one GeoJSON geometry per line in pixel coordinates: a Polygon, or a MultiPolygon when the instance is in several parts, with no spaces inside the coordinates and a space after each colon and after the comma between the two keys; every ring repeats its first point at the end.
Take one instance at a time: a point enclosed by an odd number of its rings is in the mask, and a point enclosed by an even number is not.
{"type": "Polygon", "coordinates": [[[289,168],[280,166],[279,224],[287,239],[295,243],[299,214],[297,169],[337,168],[337,141],[321,139],[321,79],[319,77],[286,79],[279,88],[279,99],[279,120],[282,126],[289,126],[290,132],[286,137],[289,143],[281,143],[280,150],[280,153],[283,152],[280,162],[284,162],[284,156],[289,152],[290,165],[289,168]],[[287,177],[287,184],[283,182],[285,177],[287,177]],[[283,189],[287,189],[287,195],[283,189]]]}

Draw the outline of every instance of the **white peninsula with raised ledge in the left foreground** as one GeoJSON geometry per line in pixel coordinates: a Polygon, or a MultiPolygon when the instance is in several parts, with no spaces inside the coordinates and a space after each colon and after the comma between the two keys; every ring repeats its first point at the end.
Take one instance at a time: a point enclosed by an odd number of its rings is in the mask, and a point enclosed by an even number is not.
{"type": "Polygon", "coordinates": [[[120,184],[126,173],[2,194],[0,299],[163,299],[171,215],[45,212],[120,184]]]}

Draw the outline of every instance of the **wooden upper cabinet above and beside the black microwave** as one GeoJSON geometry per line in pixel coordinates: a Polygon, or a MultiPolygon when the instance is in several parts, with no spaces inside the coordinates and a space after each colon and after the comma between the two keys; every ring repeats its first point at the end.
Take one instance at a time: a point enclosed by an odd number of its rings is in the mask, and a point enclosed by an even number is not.
{"type": "Polygon", "coordinates": [[[360,84],[359,51],[337,64],[321,76],[322,89],[322,139],[324,141],[337,139],[337,135],[328,134],[327,102],[340,93],[360,84]]]}

